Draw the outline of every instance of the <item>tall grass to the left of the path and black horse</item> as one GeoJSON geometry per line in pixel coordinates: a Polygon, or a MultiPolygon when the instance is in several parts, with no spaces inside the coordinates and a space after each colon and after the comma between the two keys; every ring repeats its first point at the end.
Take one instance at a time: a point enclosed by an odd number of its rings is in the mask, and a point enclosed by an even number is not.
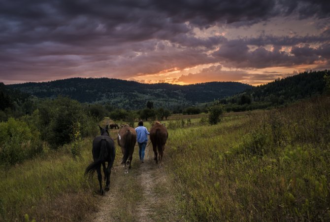
{"type": "Polygon", "coordinates": [[[91,161],[91,140],[84,140],[79,157],[69,148],[49,151],[1,172],[0,221],[78,221],[96,211],[97,180],[87,181],[84,169],[91,161]],[[88,195],[87,195],[88,194],[88,195]]]}

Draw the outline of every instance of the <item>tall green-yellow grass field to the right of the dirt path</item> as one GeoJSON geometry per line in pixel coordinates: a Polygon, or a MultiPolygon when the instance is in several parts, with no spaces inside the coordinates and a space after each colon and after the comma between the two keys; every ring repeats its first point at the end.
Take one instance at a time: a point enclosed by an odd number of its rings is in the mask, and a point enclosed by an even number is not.
{"type": "Polygon", "coordinates": [[[186,220],[330,220],[329,97],[169,135],[186,220]]]}

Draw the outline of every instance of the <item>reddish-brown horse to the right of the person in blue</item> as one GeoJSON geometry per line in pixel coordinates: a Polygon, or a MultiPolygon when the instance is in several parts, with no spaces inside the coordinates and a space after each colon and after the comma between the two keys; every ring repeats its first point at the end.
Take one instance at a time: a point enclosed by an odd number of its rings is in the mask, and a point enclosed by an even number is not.
{"type": "Polygon", "coordinates": [[[160,122],[156,121],[150,129],[150,140],[155,154],[155,160],[158,164],[157,150],[159,153],[160,168],[162,168],[163,153],[165,149],[166,140],[168,138],[167,129],[160,122]]]}

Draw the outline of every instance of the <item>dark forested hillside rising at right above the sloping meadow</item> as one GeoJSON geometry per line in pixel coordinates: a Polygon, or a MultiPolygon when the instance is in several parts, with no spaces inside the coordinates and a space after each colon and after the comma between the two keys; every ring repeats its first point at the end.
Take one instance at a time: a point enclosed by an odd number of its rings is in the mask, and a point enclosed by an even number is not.
{"type": "Polygon", "coordinates": [[[281,107],[326,92],[324,76],[330,71],[304,72],[250,89],[221,100],[228,111],[281,107]]]}

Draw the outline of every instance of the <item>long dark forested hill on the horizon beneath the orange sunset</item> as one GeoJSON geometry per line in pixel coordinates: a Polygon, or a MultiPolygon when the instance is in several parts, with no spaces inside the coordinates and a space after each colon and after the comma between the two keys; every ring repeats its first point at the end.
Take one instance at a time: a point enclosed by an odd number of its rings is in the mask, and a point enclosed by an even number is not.
{"type": "Polygon", "coordinates": [[[69,96],[82,103],[110,103],[128,110],[144,108],[147,101],[155,107],[172,109],[211,102],[239,93],[250,85],[239,82],[207,82],[192,85],[144,84],[112,78],[68,78],[49,82],[8,85],[39,98],[69,96]]]}

